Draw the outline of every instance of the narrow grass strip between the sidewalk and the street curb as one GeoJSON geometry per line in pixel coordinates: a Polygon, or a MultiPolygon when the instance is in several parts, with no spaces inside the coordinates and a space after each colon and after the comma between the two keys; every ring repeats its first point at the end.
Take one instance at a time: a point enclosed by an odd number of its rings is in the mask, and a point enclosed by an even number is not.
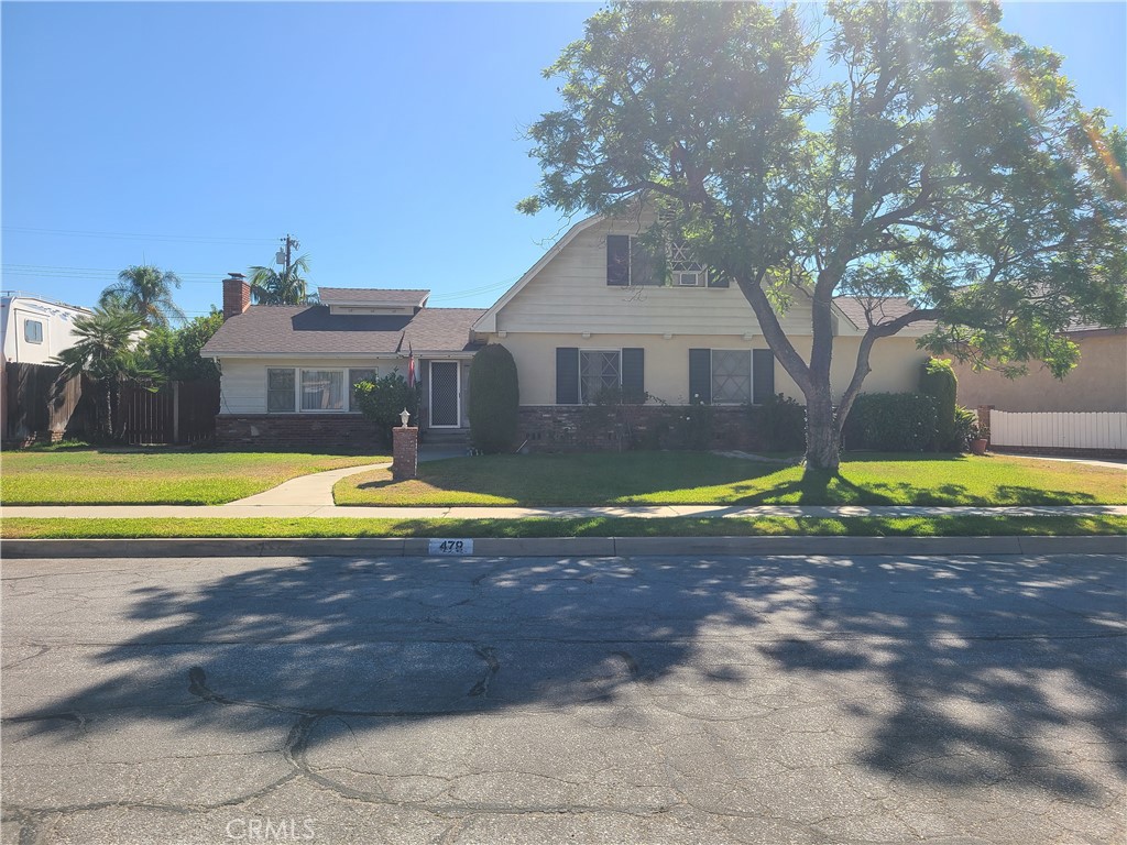
{"type": "Polygon", "coordinates": [[[640,537],[1080,536],[1127,534],[1127,516],[600,517],[587,519],[136,518],[5,519],[2,536],[98,537],[640,537]]]}

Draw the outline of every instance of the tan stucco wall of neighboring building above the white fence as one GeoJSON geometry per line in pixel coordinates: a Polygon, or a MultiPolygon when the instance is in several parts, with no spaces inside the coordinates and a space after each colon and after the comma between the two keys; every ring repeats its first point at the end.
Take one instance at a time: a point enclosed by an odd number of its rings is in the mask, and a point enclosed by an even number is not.
{"type": "Polygon", "coordinates": [[[1127,333],[1079,336],[1081,358],[1063,381],[1032,364],[1029,374],[1006,379],[955,364],[958,401],[1004,411],[1127,411],[1127,333]]]}

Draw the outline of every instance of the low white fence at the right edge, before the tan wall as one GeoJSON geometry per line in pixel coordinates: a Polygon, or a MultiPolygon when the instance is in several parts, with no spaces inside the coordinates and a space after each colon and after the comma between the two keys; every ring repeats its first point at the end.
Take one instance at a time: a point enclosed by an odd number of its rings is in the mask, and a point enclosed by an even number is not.
{"type": "Polygon", "coordinates": [[[1127,412],[1019,413],[991,409],[990,439],[994,446],[1127,450],[1127,412]]]}

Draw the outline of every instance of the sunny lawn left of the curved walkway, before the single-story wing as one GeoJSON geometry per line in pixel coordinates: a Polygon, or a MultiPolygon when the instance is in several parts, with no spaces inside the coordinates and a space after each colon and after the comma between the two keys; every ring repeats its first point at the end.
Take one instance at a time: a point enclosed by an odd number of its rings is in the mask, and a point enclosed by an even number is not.
{"type": "Polygon", "coordinates": [[[0,456],[5,505],[221,505],[379,455],[174,447],[34,448],[0,456]]]}

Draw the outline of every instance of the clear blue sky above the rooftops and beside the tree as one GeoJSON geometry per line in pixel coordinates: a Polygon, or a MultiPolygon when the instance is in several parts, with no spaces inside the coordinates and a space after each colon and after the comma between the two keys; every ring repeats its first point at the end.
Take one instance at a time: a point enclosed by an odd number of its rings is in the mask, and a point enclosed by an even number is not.
{"type": "MultiPolygon", "coordinates": [[[[485,308],[560,234],[522,128],[586,3],[3,2],[2,286],[92,304],[150,263],[204,313],[287,232],[326,286],[485,308]]],[[[1127,3],[1005,3],[1127,124],[1127,3]]]]}

